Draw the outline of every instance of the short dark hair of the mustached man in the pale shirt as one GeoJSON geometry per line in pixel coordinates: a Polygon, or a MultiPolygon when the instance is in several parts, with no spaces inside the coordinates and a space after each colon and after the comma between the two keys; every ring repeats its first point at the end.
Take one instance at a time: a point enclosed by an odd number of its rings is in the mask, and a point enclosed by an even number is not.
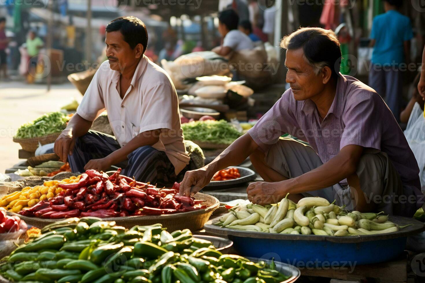
{"type": "Polygon", "coordinates": [[[124,36],[124,41],[134,49],[139,43],[143,45],[143,53],[147,48],[147,30],[146,25],[140,19],[130,17],[119,17],[110,22],[105,30],[107,32],[120,31],[124,36]]]}

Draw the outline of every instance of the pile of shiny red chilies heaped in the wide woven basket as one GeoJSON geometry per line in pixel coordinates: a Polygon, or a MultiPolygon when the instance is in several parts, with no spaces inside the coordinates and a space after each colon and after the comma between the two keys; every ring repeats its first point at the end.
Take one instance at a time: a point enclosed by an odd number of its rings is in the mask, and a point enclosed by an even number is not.
{"type": "Polygon", "coordinates": [[[56,197],[41,201],[20,211],[23,216],[47,219],[67,217],[117,217],[162,215],[207,208],[204,200],[178,194],[180,184],[173,188],[156,188],[120,175],[121,169],[108,177],[96,170],[81,174],[78,182],[59,184],[65,189],[56,197]]]}

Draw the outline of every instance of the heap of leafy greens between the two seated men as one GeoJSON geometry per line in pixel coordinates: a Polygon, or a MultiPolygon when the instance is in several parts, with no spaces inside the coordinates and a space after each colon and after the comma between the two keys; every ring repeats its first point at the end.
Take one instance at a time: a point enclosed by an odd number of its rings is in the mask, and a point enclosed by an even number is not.
{"type": "Polygon", "coordinates": [[[185,140],[208,143],[230,144],[241,136],[241,133],[225,120],[193,121],[181,124],[181,129],[185,140]]]}

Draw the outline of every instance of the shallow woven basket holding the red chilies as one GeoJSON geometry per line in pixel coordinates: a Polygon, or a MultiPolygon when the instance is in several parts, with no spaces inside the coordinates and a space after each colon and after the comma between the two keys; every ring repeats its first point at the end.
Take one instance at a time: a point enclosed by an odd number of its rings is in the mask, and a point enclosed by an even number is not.
{"type": "MultiPolygon", "coordinates": [[[[108,217],[104,218],[105,221],[115,221],[116,225],[124,226],[126,228],[131,228],[135,225],[152,225],[156,223],[161,223],[162,227],[166,227],[168,231],[175,230],[183,230],[190,229],[191,231],[201,230],[204,227],[204,224],[210,219],[212,212],[218,207],[219,202],[213,196],[204,194],[204,193],[196,193],[195,199],[204,199],[205,202],[203,204],[208,207],[202,210],[195,210],[184,213],[176,213],[176,214],[167,214],[167,215],[159,215],[159,216],[127,216],[127,217],[108,217]]],[[[16,213],[8,212],[9,215],[17,215],[22,220],[26,222],[26,224],[42,228],[52,222],[56,222],[62,219],[41,219],[37,217],[28,217],[22,216],[16,213]]]]}

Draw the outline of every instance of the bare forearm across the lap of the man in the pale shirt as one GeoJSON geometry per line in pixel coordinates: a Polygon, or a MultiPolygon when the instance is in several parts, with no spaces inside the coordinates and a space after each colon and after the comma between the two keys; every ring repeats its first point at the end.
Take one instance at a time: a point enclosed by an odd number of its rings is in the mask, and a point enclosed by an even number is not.
{"type": "Polygon", "coordinates": [[[141,146],[153,146],[159,140],[160,130],[148,131],[138,134],[132,140],[130,140],[125,146],[121,149],[113,151],[106,158],[108,159],[111,165],[120,163],[124,160],[127,160],[127,155],[135,151],[141,146]]]}

